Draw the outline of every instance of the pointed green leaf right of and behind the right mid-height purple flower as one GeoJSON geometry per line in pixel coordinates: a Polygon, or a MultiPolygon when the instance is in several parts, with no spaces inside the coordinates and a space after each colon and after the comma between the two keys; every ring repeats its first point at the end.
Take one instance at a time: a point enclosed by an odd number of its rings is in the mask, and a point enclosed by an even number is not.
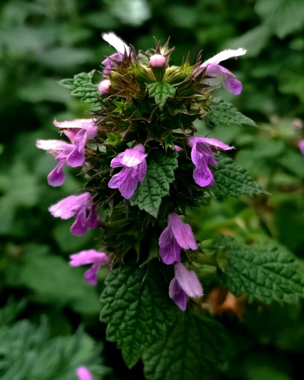
{"type": "Polygon", "coordinates": [[[221,155],[215,158],[218,166],[213,172],[215,183],[211,191],[216,196],[233,196],[238,199],[241,195],[268,194],[249,176],[246,169],[236,165],[231,158],[221,155]]]}

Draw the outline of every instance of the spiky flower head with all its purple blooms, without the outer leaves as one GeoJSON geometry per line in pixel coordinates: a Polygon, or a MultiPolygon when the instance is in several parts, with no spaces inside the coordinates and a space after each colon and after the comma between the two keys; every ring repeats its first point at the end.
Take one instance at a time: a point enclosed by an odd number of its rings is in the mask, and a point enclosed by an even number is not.
{"type": "Polygon", "coordinates": [[[97,209],[102,209],[107,254],[82,251],[72,255],[70,262],[92,264],[85,274],[91,284],[97,283],[102,264],[111,261],[113,266],[123,258],[132,262],[136,256],[142,263],[149,262],[149,247],[158,240],[159,257],[166,271],[174,272],[169,296],[185,310],[187,296],[199,297],[203,291],[196,274],[186,268],[197,244],[191,227],[179,215],[214,185],[213,150],[233,149],[194,136],[193,122],[205,120],[215,79],[222,80],[226,90],[241,92],[241,83],[219,63],[246,51],[226,50],[203,63],[199,56],[192,66],[187,58],[180,67],[170,67],[169,41],[136,54],[114,33],[104,34],[103,39],[116,52],[102,61],[103,80],[97,86],[100,107],[93,118],[55,120],[70,142],[37,141],[37,147],[51,152],[57,161],[48,176],[51,186],[63,184],[64,165],[85,164],[88,179],[85,193],[65,198],[49,211],[62,219],[75,216],[71,232],[81,235],[100,226],[97,209]],[[86,146],[88,141],[91,144],[86,146]]]}

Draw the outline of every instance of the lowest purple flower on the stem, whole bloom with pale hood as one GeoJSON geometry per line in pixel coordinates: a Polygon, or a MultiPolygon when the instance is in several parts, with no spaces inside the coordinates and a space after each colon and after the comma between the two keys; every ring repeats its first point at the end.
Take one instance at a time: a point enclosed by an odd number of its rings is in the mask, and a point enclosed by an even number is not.
{"type": "Polygon", "coordinates": [[[169,297],[177,304],[177,306],[185,311],[187,308],[187,296],[201,297],[203,288],[196,274],[188,271],[182,263],[174,265],[175,276],[169,285],[169,297]]]}

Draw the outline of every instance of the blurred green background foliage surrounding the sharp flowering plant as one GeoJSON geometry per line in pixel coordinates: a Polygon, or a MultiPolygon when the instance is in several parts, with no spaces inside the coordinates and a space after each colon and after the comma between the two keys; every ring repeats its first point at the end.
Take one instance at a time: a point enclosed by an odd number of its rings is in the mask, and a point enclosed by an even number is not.
{"type": "MultiPolygon", "coordinates": [[[[207,59],[224,48],[248,49],[224,63],[242,81],[242,94],[216,91],[258,128],[197,128],[234,144],[236,162],[271,195],[212,199],[209,207],[189,210],[189,217],[197,239],[219,232],[248,243],[276,239],[304,271],[304,160],[297,147],[304,138],[302,0],[2,0],[0,25],[2,380],[75,380],[78,365],[87,365],[96,379],[143,379],[141,364],[127,370],[115,344],[104,342],[98,298],[105,272],[94,288],[84,282],[84,268],[68,265],[68,255],[93,248],[100,231],[72,236],[70,221],[48,213],[50,204],[80,188],[81,178],[67,168],[65,184],[49,187],[53,157],[35,148],[38,137],[58,138],[54,118],[89,115],[89,106],[56,81],[99,70],[114,52],[102,32],[113,30],[143,50],[154,45],[153,36],[164,43],[170,35],[177,65],[188,51],[194,63],[201,50],[207,59]]],[[[214,275],[198,269],[207,290],[214,275]]],[[[222,378],[302,379],[302,306],[234,299],[226,307],[222,292],[203,303],[231,333],[232,364],[222,378]]]]}

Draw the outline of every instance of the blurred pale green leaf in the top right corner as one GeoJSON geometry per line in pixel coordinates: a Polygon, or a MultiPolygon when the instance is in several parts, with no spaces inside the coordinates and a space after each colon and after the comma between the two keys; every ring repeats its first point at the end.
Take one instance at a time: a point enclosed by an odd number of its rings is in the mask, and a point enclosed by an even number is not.
{"type": "Polygon", "coordinates": [[[300,30],[304,25],[302,0],[259,0],[255,11],[279,38],[300,30]]]}

